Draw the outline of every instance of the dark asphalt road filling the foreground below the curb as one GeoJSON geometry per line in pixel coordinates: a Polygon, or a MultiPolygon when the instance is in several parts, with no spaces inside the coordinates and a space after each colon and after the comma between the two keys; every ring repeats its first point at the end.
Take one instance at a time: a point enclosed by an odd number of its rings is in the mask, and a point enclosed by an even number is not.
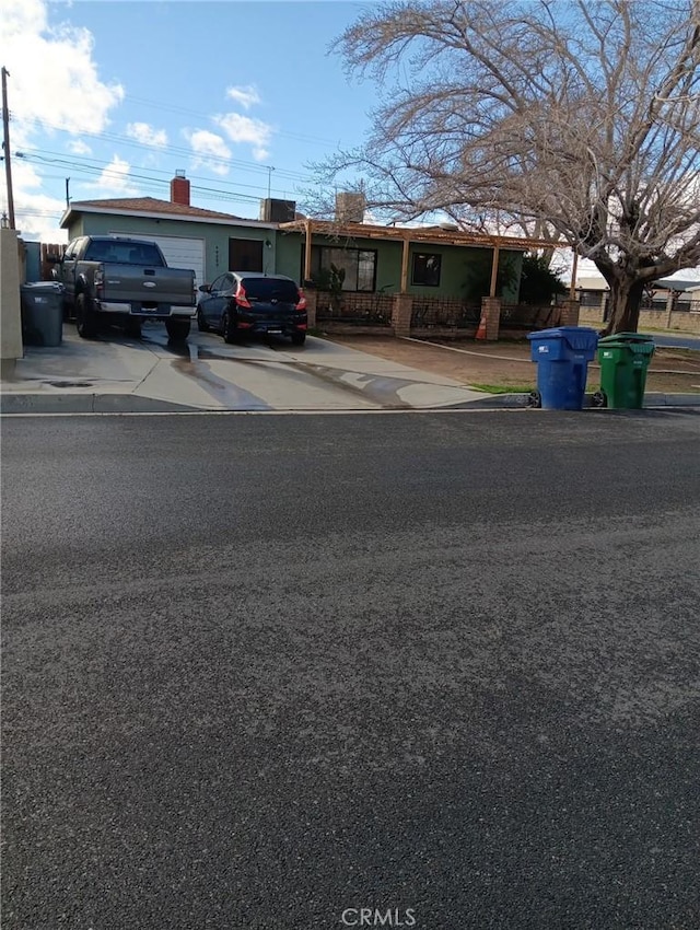
{"type": "Polygon", "coordinates": [[[697,412],[2,439],[3,930],[700,926],[697,412]]]}

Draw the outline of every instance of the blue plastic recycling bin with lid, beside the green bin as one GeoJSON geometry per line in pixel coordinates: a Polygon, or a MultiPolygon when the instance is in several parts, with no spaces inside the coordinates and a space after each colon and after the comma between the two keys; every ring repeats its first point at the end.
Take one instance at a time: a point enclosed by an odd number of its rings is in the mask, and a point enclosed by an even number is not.
{"type": "Polygon", "coordinates": [[[595,358],[598,334],[587,326],[557,326],[528,333],[530,360],[537,363],[537,393],[546,410],[580,410],[595,358]]]}

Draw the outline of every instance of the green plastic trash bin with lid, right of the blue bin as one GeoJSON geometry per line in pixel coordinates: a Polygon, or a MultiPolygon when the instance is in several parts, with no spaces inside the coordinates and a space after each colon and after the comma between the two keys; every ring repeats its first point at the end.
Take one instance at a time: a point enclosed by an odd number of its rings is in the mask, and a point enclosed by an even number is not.
{"type": "Polygon", "coordinates": [[[614,410],[641,410],[646,371],[653,354],[653,336],[616,333],[599,339],[602,406],[614,410]]]}

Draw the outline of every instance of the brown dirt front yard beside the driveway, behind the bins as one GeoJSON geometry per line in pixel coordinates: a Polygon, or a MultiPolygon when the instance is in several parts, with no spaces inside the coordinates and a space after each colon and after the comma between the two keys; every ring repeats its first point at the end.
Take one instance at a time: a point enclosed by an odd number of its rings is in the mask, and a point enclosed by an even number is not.
{"type": "MultiPolygon", "coordinates": [[[[383,359],[452,377],[471,387],[529,392],[537,374],[529,342],[423,342],[387,336],[326,336],[332,342],[383,359]]],[[[588,365],[586,391],[597,391],[599,369],[588,365]]],[[[664,394],[700,393],[700,352],[656,349],[646,390],[664,394]]]]}

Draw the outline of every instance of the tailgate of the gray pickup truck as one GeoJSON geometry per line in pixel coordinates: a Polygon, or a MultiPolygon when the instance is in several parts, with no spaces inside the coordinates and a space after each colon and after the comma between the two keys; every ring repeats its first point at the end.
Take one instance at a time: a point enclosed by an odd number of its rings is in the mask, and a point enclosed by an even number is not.
{"type": "Polygon", "coordinates": [[[104,288],[108,301],[195,305],[195,272],[182,268],[106,264],[104,288]]]}

